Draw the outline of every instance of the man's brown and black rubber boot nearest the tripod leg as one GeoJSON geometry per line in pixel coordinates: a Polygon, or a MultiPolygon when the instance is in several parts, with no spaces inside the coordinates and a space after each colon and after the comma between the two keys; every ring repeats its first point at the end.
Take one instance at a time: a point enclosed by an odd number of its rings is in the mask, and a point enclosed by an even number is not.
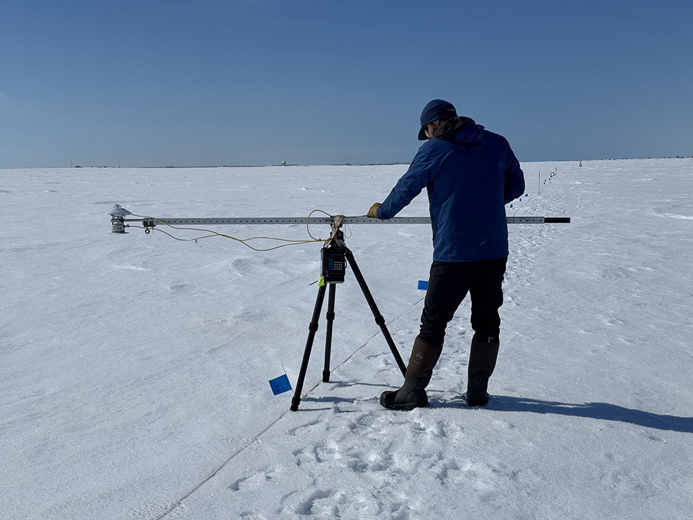
{"type": "Polygon", "coordinates": [[[428,395],[425,388],[430,383],[433,367],[438,363],[442,351],[442,345],[439,347],[430,345],[416,336],[402,388],[383,392],[380,396],[380,405],[391,410],[428,408],[428,395]]]}

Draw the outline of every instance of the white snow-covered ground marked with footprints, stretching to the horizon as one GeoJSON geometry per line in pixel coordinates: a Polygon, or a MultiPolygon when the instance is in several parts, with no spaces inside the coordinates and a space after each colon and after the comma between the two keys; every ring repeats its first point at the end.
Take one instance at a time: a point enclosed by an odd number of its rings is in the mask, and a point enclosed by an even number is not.
{"type": "MultiPolygon", "coordinates": [[[[331,382],[321,320],[300,410],[272,395],[285,369],[296,383],[320,243],[117,235],[106,213],[356,216],[407,166],[1,170],[0,516],[690,518],[693,159],[582,164],[523,164],[528,196],[507,213],[572,223],[510,226],[489,405],[460,402],[465,302],[432,407],[403,413],[378,405],[401,374],[351,270],[331,382]]],[[[425,195],[401,214],[427,215],[425,195]]],[[[406,361],[430,227],[347,236],[406,361]]]]}

